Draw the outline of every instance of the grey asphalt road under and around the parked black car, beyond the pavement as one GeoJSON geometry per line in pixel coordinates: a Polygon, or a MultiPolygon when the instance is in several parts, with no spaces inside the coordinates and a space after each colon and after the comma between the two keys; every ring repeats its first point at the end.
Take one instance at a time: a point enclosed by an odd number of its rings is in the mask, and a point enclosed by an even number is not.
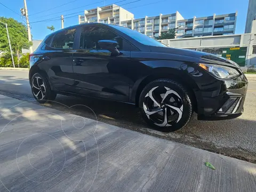
{"type": "MultiPolygon", "coordinates": [[[[34,100],[28,82],[28,71],[0,70],[0,94],[24,101],[34,100]]],[[[249,83],[244,114],[241,117],[208,122],[197,121],[194,114],[186,127],[172,133],[150,129],[141,119],[139,110],[125,103],[63,95],[58,95],[55,101],[46,106],[92,119],[95,119],[94,112],[99,121],[108,124],[256,163],[256,82],[249,83]],[[74,105],[84,105],[90,109],[71,107],[74,105]]]]}

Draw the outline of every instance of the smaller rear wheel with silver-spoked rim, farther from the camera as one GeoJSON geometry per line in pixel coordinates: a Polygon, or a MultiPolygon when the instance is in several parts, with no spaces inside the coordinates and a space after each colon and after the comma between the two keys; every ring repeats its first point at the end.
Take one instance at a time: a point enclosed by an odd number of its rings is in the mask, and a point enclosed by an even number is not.
{"type": "Polygon", "coordinates": [[[31,78],[31,91],[34,98],[39,103],[53,101],[57,96],[57,94],[51,90],[47,78],[40,73],[34,74],[31,78]]]}

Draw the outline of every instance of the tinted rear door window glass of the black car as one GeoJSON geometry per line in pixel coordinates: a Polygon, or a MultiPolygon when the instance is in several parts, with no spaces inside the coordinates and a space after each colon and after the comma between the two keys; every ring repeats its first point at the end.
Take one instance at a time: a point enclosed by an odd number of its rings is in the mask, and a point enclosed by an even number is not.
{"type": "Polygon", "coordinates": [[[53,37],[51,47],[58,49],[73,49],[76,29],[61,31],[53,37]]]}

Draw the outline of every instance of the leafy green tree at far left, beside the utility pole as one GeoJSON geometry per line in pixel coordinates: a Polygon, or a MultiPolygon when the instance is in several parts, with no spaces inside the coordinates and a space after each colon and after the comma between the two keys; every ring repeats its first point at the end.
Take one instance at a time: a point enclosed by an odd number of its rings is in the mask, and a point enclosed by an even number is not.
{"type": "MultiPolygon", "coordinates": [[[[17,54],[18,67],[19,58],[22,49],[29,49],[33,43],[28,41],[27,27],[23,23],[13,18],[0,17],[0,21],[7,23],[12,51],[17,54]]],[[[9,41],[6,34],[6,28],[0,27],[0,51],[10,52],[9,41]]]]}

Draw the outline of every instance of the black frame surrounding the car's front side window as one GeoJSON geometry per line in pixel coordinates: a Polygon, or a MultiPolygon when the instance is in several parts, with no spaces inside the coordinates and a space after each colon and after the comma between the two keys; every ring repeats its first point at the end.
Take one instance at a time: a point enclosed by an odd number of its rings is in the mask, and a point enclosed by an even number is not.
{"type": "MultiPolygon", "coordinates": [[[[101,28],[104,28],[104,29],[107,29],[107,30],[110,30],[112,33],[114,33],[115,35],[117,35],[117,36],[119,36],[119,37],[121,37],[122,39],[123,39],[123,41],[125,41],[125,43],[126,44],[128,44],[128,45],[130,45],[131,46],[131,48],[130,48],[130,50],[124,50],[124,49],[122,49],[122,50],[119,50],[119,51],[135,51],[135,50],[137,50],[137,47],[135,47],[133,44],[131,44],[129,41],[127,41],[122,35],[119,35],[119,34],[117,34],[115,31],[113,31],[113,30],[111,30],[111,29],[109,29],[108,27],[105,27],[105,26],[98,26],[98,25],[85,25],[85,26],[78,26],[77,27],[77,34],[79,34],[78,35],[78,37],[77,37],[77,42],[76,42],[76,48],[74,49],[73,48],[73,50],[103,50],[103,49],[80,49],[79,48],[79,46],[80,46],[80,38],[81,38],[81,33],[82,33],[82,28],[83,27],[101,27],[101,28]]],[[[75,44],[75,43],[74,43],[75,44]]],[[[124,42],[123,42],[123,44],[124,44],[124,42]]],[[[104,49],[105,50],[105,49],[104,49]]]]}

